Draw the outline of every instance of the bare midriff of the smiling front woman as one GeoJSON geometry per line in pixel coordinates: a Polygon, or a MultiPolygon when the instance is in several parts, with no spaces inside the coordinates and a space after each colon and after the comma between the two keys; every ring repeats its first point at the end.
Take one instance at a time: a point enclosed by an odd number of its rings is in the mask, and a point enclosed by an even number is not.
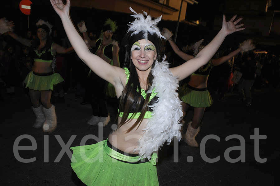
{"type": "MultiPolygon", "coordinates": [[[[118,118],[118,124],[121,119],[121,117],[118,118]]],[[[138,154],[138,152],[133,152],[133,150],[138,146],[138,140],[142,138],[143,129],[147,126],[147,121],[149,119],[143,119],[141,124],[138,125],[139,127],[136,126],[132,131],[126,133],[136,120],[137,119],[130,120],[128,123],[125,123],[109,134],[108,140],[112,146],[130,154],[138,154]]]]}

